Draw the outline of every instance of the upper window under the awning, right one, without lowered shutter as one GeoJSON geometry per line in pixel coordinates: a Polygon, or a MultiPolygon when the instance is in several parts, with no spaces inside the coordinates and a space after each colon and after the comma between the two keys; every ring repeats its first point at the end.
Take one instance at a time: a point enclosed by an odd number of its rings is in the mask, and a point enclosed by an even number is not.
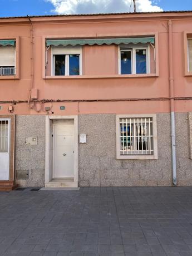
{"type": "Polygon", "coordinates": [[[149,49],[149,46],[120,47],[120,73],[122,75],[150,73],[149,49]]]}

